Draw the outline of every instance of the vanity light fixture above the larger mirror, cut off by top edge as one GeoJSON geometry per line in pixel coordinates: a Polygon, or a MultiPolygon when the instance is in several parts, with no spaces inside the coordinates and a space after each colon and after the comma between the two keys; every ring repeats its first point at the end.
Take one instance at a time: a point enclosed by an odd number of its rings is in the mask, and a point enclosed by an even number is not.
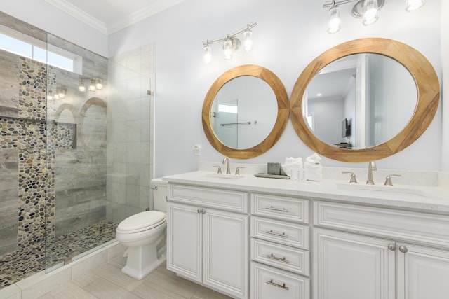
{"type": "MultiPolygon", "coordinates": [[[[340,6],[342,4],[354,3],[351,15],[354,18],[362,18],[363,25],[372,25],[379,18],[379,10],[384,6],[385,0],[342,0],[326,1],[323,8],[329,8],[328,32],[340,31],[342,20],[340,18],[340,6]]],[[[406,0],[406,11],[415,11],[426,3],[426,0],[406,0]]]]}

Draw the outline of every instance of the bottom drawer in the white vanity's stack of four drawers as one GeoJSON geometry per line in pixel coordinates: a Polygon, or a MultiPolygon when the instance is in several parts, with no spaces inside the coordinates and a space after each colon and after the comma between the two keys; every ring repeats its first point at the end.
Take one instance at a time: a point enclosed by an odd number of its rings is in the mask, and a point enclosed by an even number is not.
{"type": "Polygon", "coordinates": [[[310,279],[251,262],[251,299],[309,299],[310,279]]]}

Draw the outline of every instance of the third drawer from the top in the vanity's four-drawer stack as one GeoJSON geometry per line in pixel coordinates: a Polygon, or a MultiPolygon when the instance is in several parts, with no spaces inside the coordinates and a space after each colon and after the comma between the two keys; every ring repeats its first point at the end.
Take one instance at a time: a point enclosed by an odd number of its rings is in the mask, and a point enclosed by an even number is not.
{"type": "Polygon", "coordinates": [[[251,259],[283,270],[309,276],[309,251],[260,239],[251,239],[251,259]]]}

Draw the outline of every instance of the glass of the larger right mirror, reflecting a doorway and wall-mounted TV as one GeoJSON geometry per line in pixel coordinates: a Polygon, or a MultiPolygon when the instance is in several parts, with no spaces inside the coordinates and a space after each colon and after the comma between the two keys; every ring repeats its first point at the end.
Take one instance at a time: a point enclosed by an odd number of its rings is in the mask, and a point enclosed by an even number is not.
{"type": "Polygon", "coordinates": [[[385,55],[348,55],[323,67],[307,85],[304,118],[321,141],[370,148],[396,136],[413,116],[415,80],[385,55]]]}

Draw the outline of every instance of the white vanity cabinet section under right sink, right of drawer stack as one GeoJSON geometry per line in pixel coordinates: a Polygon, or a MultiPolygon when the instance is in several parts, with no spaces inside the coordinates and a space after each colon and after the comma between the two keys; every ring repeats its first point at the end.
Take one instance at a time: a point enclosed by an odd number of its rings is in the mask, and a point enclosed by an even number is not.
{"type": "Polygon", "coordinates": [[[314,226],[314,299],[449,298],[448,216],[314,201],[314,226]]]}

